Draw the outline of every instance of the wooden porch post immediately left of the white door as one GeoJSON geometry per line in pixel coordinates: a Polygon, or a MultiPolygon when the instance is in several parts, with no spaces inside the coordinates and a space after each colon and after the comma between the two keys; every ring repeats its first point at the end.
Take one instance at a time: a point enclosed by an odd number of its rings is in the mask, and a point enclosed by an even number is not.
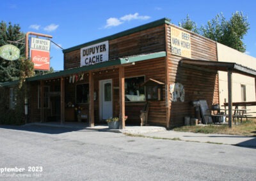
{"type": "Polygon", "coordinates": [[[89,126],[94,127],[94,80],[92,71],[89,72],[89,126]]]}

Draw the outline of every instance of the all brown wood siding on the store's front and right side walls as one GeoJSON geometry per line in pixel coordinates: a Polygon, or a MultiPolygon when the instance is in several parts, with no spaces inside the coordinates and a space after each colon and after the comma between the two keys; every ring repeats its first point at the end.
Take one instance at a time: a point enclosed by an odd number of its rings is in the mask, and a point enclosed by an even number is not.
{"type": "MultiPolygon", "coordinates": [[[[191,101],[196,99],[206,99],[209,106],[218,103],[218,73],[207,71],[207,69],[181,67],[179,65],[182,57],[171,54],[170,27],[172,25],[163,24],[150,29],[145,29],[136,33],[125,35],[114,40],[109,40],[109,61],[119,57],[127,57],[154,52],[166,51],[166,57],[149,59],[135,62],[135,65],[125,66],[125,78],[145,76],[145,81],[149,78],[164,82],[168,87],[172,83],[182,83],[185,89],[184,102],[171,102],[168,100],[170,110],[170,127],[184,125],[185,116],[194,116],[194,108],[191,101]],[[167,62],[166,62],[167,61],[167,62]],[[168,81],[168,82],[166,82],[168,81]]],[[[182,29],[182,31],[186,31],[182,29]]],[[[217,61],[216,43],[198,34],[191,33],[191,59],[201,59],[207,61],[217,61]]],[[[64,54],[64,69],[76,68],[80,66],[80,49],[72,50],[64,54]]],[[[192,60],[191,60],[192,61],[192,60]]],[[[65,104],[72,102],[76,104],[76,85],[79,83],[89,83],[89,72],[84,73],[84,80],[76,83],[69,82],[69,76],[65,77],[65,104]]],[[[81,73],[79,73],[81,74],[81,73]]],[[[73,75],[70,75],[73,76],[73,75]]],[[[118,67],[101,68],[92,72],[94,82],[94,92],[97,99],[94,101],[95,123],[100,122],[99,118],[99,81],[111,79],[113,83],[113,117],[119,117],[119,76],[118,67]]],[[[57,80],[57,79],[56,79],[57,80]]],[[[47,82],[44,82],[48,85],[47,82]]],[[[60,84],[60,83],[59,83],[60,84]]],[[[60,86],[55,83],[56,86],[60,86]]],[[[33,121],[40,121],[40,110],[37,108],[37,85],[31,84],[31,117],[33,121]],[[32,113],[33,112],[33,113],[32,113]]],[[[50,85],[50,84],[49,84],[50,85]]],[[[54,85],[51,84],[51,87],[54,85]]],[[[166,89],[163,86],[162,101],[148,101],[148,124],[166,126],[168,113],[166,113],[166,89]]],[[[51,88],[50,88],[51,89],[51,88]]],[[[168,90],[168,89],[167,89],[168,90]]],[[[170,92],[167,92],[170,94],[170,92]]],[[[170,95],[168,95],[170,97],[170,95]]],[[[140,110],[145,102],[125,102],[125,115],[128,116],[126,124],[140,125],[140,110]]],[[[88,104],[81,104],[83,110],[88,110],[88,104]]],[[[45,114],[49,113],[48,110],[45,114]]],[[[106,123],[106,122],[104,122],[106,123]]]]}

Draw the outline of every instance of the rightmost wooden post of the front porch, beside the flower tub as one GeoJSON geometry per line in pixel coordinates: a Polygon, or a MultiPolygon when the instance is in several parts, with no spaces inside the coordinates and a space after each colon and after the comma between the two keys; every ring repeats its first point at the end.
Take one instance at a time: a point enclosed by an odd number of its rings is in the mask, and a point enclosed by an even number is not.
{"type": "Polygon", "coordinates": [[[120,126],[119,129],[125,128],[125,95],[124,95],[124,67],[120,66],[119,68],[119,120],[120,120],[120,126]]]}

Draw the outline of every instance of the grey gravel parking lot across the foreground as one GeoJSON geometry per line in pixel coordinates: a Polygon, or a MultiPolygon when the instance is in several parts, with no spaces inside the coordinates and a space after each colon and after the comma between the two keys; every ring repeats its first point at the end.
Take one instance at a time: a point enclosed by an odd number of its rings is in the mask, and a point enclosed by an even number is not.
{"type": "Polygon", "coordinates": [[[255,148],[47,126],[0,126],[0,141],[0,180],[256,179],[255,148]]]}

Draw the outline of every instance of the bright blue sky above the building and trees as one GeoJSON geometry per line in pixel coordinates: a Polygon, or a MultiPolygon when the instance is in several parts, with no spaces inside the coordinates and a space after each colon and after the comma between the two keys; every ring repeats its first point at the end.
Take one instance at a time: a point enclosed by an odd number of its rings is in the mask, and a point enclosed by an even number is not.
{"type": "MultiPolygon", "coordinates": [[[[232,13],[243,11],[250,30],[244,37],[246,54],[256,57],[256,1],[31,1],[2,0],[0,20],[19,24],[24,33],[52,35],[52,41],[70,48],[88,41],[119,33],[160,18],[170,18],[178,25],[188,14],[198,26],[207,24],[218,13],[229,19],[232,13]]],[[[63,69],[63,53],[51,45],[51,66],[63,69]]]]}

